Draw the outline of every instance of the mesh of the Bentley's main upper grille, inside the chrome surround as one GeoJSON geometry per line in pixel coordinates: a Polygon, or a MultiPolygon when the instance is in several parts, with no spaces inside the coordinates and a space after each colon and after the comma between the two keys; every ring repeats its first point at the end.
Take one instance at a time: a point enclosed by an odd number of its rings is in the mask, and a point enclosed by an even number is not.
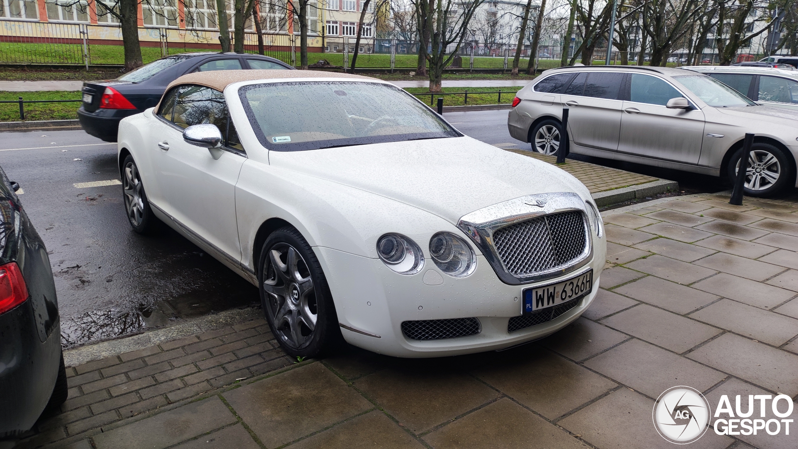
{"type": "Polygon", "coordinates": [[[553,213],[501,228],[493,244],[513,276],[544,272],[577,258],[585,249],[585,222],[579,211],[553,213]]]}

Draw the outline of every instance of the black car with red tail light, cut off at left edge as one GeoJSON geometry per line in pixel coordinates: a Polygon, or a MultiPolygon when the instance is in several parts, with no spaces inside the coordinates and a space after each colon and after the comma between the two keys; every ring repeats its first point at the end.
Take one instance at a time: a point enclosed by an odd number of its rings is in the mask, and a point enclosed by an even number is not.
{"type": "Polygon", "coordinates": [[[0,169],[0,447],[68,392],[53,270],[17,189],[0,169]]]}

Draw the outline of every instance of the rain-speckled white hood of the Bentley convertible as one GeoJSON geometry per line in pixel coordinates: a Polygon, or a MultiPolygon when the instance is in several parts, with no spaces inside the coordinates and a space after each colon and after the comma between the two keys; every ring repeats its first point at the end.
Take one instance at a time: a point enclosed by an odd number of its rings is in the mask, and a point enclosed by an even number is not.
{"type": "Polygon", "coordinates": [[[564,170],[471,137],[270,151],[269,163],[389,197],[452,224],[477,209],[532,193],[590,197],[564,170]]]}

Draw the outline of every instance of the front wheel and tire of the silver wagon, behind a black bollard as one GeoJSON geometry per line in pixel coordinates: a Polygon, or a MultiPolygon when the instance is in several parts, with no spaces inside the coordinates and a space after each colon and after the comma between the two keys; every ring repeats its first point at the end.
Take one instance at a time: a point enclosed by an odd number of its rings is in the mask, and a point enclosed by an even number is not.
{"type": "MultiPolygon", "coordinates": [[[[741,155],[742,149],[734,153],[729,161],[727,174],[732,184],[737,180],[737,165],[741,155]]],[[[754,143],[751,145],[749,164],[752,161],[760,166],[755,166],[753,169],[749,166],[749,173],[756,174],[757,179],[754,180],[753,176],[746,177],[744,193],[747,197],[772,197],[788,187],[795,179],[795,163],[784,153],[784,150],[777,146],[764,142],[754,143]],[[775,161],[769,158],[768,154],[772,155],[775,161]],[[777,179],[773,180],[772,177],[776,175],[777,179]],[[749,188],[749,186],[756,188],[749,188]]]]}

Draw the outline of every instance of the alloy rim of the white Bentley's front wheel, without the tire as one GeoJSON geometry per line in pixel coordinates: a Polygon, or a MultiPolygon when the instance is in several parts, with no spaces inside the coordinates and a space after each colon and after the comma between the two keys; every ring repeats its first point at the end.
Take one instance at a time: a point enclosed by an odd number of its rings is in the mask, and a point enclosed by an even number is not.
{"type": "Polygon", "coordinates": [[[263,290],[276,337],[290,348],[306,348],[316,329],[318,308],[310,271],[296,248],[277,243],[269,249],[263,290]]]}

